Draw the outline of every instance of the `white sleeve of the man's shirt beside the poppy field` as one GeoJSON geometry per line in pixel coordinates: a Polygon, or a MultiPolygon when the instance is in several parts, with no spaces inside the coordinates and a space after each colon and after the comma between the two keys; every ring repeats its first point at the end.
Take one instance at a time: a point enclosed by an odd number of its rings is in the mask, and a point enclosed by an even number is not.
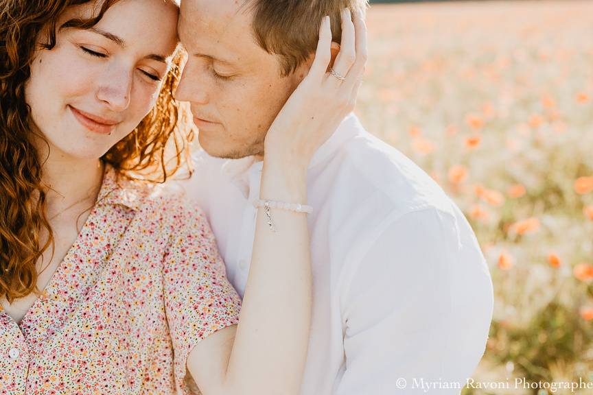
{"type": "Polygon", "coordinates": [[[459,394],[485,350],[492,292],[465,217],[437,208],[399,217],[351,280],[334,393],[459,394]]]}

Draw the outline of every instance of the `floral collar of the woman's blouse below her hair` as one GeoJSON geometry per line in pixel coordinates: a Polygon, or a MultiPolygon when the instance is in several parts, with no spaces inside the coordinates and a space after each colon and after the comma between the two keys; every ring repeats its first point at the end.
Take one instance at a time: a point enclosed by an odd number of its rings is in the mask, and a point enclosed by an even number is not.
{"type": "Polygon", "coordinates": [[[154,187],[146,182],[126,178],[118,173],[111,165],[106,164],[96,205],[121,205],[138,211],[144,198],[153,189],[154,187]]]}

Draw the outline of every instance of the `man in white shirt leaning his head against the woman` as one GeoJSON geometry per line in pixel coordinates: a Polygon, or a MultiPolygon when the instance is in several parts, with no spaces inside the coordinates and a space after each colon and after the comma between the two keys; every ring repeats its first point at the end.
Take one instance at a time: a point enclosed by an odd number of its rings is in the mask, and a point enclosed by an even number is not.
{"type": "MultiPolygon", "coordinates": [[[[342,8],[365,7],[181,3],[189,60],[176,97],[191,102],[203,149],[185,188],[207,213],[241,295],[266,131],[307,73],[322,17],[339,43],[342,8]]],[[[461,211],[354,115],[316,152],[307,184],[314,311],[302,394],[458,394],[485,350],[493,308],[488,268],[461,211]]]]}

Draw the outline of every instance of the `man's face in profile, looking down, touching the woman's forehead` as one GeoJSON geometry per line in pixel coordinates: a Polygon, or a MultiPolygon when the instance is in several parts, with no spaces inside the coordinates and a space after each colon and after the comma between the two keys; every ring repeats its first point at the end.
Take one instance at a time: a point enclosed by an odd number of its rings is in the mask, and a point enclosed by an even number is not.
{"type": "Polygon", "coordinates": [[[175,96],[191,103],[200,145],[220,158],[263,154],[268,128],[304,74],[281,76],[277,56],[255,43],[243,2],[181,2],[189,58],[175,96]]]}

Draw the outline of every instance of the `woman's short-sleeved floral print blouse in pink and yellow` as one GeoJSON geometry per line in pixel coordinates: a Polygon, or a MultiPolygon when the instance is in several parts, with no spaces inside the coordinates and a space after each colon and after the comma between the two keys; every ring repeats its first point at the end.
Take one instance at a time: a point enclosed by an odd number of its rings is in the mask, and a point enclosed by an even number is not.
{"type": "Polygon", "coordinates": [[[191,394],[191,348],[239,310],[199,209],[107,166],[44,295],[0,307],[0,394],[191,394]]]}

